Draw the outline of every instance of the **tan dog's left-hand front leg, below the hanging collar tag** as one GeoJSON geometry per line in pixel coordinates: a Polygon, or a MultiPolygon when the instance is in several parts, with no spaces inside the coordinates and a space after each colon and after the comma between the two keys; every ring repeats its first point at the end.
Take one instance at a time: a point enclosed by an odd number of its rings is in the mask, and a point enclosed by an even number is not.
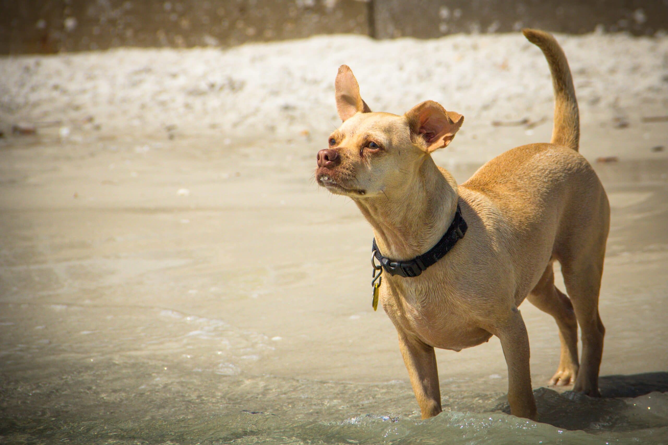
{"type": "Polygon", "coordinates": [[[434,347],[399,332],[399,349],[408,369],[415,398],[418,399],[422,418],[430,418],[442,411],[441,390],[434,347]]]}

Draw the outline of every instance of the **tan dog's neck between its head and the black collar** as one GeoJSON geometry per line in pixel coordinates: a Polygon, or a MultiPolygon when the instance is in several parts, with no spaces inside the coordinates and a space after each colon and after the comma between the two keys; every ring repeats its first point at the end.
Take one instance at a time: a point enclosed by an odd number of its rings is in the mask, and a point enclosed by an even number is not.
{"type": "Polygon", "coordinates": [[[409,260],[431,249],[448,230],[457,210],[457,182],[426,156],[403,188],[354,199],[373,227],[381,255],[409,260]]]}

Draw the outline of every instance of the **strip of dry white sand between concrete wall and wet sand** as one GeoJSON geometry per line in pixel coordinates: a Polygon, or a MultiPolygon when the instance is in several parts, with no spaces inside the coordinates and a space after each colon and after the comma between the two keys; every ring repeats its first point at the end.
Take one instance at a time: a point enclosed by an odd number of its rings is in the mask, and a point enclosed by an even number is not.
{"type": "MultiPolygon", "coordinates": [[[[668,38],[558,35],[573,72],[583,126],[666,114],[668,38]]],[[[373,110],[403,113],[432,99],[466,116],[544,118],[552,90],[542,53],[519,33],[373,41],[348,35],[228,50],[114,49],[0,59],[0,122],[73,122],[102,132],[222,134],[236,140],[321,136],[338,125],[337,67],[350,65],[373,110]]],[[[5,128],[6,131],[6,128],[5,128]]],[[[521,134],[519,130],[514,130],[521,134]]],[[[460,136],[461,139],[461,136],[460,136]]],[[[505,146],[504,149],[509,148],[505,146]]]]}

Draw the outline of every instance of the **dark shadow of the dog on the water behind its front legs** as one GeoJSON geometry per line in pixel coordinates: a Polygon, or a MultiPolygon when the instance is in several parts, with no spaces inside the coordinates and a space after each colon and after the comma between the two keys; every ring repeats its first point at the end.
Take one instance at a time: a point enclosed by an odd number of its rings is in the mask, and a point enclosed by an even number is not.
{"type": "MultiPolygon", "coordinates": [[[[566,430],[589,431],[635,430],[668,425],[668,418],[655,415],[656,410],[647,410],[649,404],[655,403],[651,400],[652,396],[637,401],[628,400],[653,392],[668,392],[668,372],[602,376],[599,378],[599,389],[601,398],[572,391],[559,393],[549,388],[534,390],[538,420],[566,430]]],[[[665,404],[666,400],[668,395],[660,402],[665,404]]],[[[508,402],[501,402],[496,410],[510,414],[508,402]]],[[[665,411],[665,405],[661,411],[665,411]]]]}

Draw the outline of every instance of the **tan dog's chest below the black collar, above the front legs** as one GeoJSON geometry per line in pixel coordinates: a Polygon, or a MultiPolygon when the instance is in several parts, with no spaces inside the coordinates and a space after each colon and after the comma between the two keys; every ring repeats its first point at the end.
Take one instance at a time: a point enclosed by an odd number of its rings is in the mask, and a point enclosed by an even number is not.
{"type": "Polygon", "coordinates": [[[382,303],[397,329],[417,336],[428,345],[459,351],[487,341],[492,334],[467,317],[466,301],[447,286],[402,283],[387,287],[382,303]]]}

